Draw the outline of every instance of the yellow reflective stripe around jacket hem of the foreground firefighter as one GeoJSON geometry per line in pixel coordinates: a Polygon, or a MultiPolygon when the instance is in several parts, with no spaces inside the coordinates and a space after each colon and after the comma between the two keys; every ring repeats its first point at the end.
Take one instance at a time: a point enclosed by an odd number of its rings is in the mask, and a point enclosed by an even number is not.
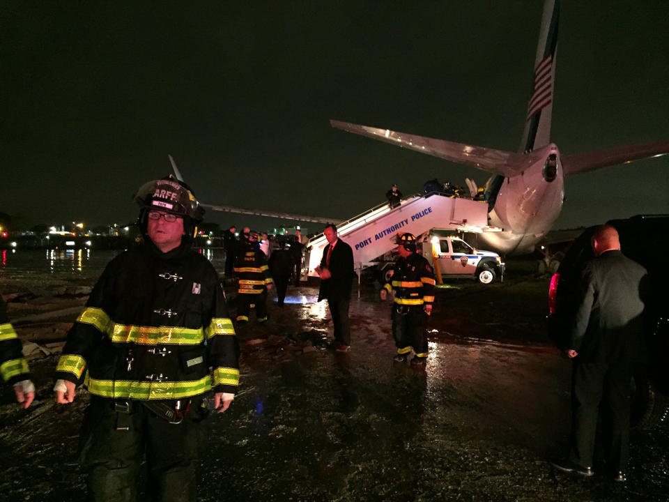
{"type": "Polygon", "coordinates": [[[86,379],[86,386],[91,394],[115,399],[160,400],[181,399],[202,393],[211,388],[211,377],[207,375],[193,381],[130,381],[86,379]]]}

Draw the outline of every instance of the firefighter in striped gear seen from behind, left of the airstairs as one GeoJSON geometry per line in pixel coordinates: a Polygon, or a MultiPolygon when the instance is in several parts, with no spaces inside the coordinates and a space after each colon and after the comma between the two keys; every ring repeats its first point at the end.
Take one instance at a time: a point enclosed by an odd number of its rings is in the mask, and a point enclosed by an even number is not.
{"type": "Polygon", "coordinates": [[[249,311],[253,305],[256,307],[256,319],[259,323],[268,319],[267,291],[272,289],[272,277],[267,257],[258,244],[258,234],[250,232],[245,248],[238,254],[235,262],[235,273],[238,277],[236,321],[242,324],[249,321],[249,311]]]}

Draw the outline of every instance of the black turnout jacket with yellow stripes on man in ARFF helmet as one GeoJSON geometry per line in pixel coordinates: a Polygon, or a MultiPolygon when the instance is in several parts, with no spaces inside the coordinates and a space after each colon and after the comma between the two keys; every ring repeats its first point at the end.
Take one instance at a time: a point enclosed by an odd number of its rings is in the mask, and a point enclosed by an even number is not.
{"type": "Polygon", "coordinates": [[[150,241],[114,258],[68,333],[56,378],[95,395],[178,400],[236,393],[239,344],[210,262],[150,241]]]}

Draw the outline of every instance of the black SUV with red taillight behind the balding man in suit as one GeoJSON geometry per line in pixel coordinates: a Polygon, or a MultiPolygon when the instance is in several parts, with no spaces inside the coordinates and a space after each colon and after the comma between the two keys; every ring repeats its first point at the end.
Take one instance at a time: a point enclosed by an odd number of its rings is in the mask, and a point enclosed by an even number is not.
{"type": "MultiPolygon", "coordinates": [[[[638,215],[611,220],[620,235],[622,253],[648,271],[651,301],[647,305],[647,365],[634,372],[631,421],[638,427],[652,427],[667,416],[669,404],[669,302],[666,300],[666,271],[669,263],[669,215],[638,215]]],[[[564,255],[548,290],[548,336],[560,349],[566,347],[567,326],[578,301],[578,279],[585,262],[592,259],[590,238],[597,227],[585,229],[564,255]]]]}

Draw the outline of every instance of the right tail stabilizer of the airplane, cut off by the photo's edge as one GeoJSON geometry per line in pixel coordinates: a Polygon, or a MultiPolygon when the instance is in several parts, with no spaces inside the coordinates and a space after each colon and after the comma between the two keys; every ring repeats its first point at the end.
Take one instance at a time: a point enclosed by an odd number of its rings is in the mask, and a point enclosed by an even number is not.
{"type": "Polygon", "coordinates": [[[628,164],[633,160],[659,157],[668,153],[669,141],[618,146],[608,150],[562,155],[562,170],[565,176],[569,176],[570,174],[592,171],[600,167],[628,164]]]}

